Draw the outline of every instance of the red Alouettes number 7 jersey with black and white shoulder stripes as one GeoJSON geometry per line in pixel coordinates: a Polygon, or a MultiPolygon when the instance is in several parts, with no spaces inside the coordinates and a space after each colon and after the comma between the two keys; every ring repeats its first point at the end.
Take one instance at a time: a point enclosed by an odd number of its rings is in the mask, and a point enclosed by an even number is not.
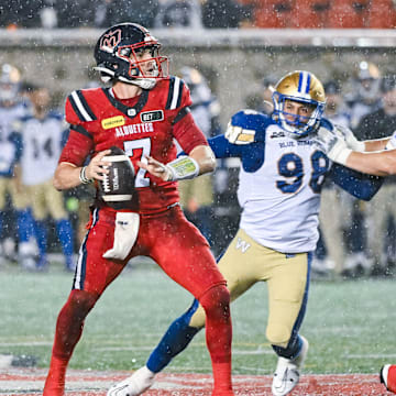
{"type": "Polygon", "coordinates": [[[59,163],[81,166],[87,156],[116,145],[130,156],[136,173],[138,194],[131,210],[161,211],[179,200],[177,183],[163,182],[139,168],[136,161],[144,162],[146,155],[164,164],[175,160],[174,139],[187,154],[208,144],[194,122],[190,105],[188,87],[173,76],[128,100],[117,99],[111,88],[74,91],[66,100],[70,134],[59,163]]]}

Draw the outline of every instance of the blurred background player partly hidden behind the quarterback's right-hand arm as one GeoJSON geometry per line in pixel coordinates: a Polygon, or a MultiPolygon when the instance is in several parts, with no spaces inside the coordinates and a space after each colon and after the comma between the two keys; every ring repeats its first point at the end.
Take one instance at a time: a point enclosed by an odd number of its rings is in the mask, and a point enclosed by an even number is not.
{"type": "MultiPolygon", "coordinates": [[[[199,70],[193,67],[183,67],[180,73],[190,89],[193,100],[190,110],[197,125],[206,138],[220,133],[218,123],[220,105],[212,95],[206,78],[199,70]]],[[[204,175],[195,179],[179,182],[179,193],[180,205],[186,217],[199,228],[212,246],[212,175],[204,175]]]]}

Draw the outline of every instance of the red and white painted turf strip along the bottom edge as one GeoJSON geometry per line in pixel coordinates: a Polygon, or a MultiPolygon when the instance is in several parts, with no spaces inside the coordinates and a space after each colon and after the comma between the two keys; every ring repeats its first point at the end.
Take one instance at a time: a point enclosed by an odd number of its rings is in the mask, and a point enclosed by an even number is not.
{"type": "MultiPolygon", "coordinates": [[[[10,369],[0,371],[0,395],[42,395],[46,370],[10,369]]],[[[70,370],[65,396],[106,396],[107,389],[125,378],[130,372],[96,372],[70,370]]],[[[234,375],[235,396],[271,396],[272,376],[234,375]]],[[[209,374],[161,373],[145,396],[210,396],[209,374]]],[[[388,396],[374,374],[302,375],[298,396],[388,396]]]]}

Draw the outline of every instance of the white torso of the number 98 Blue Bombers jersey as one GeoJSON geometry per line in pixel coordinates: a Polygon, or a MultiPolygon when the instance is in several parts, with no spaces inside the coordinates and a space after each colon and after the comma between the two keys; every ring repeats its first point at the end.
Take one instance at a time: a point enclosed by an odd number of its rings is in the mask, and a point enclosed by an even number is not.
{"type": "Polygon", "coordinates": [[[252,172],[246,166],[252,155],[242,155],[240,227],[260,244],[278,252],[312,251],[318,241],[320,188],[330,161],[309,136],[290,138],[271,118],[260,117],[262,142],[253,144],[261,146],[264,157],[252,172]]]}

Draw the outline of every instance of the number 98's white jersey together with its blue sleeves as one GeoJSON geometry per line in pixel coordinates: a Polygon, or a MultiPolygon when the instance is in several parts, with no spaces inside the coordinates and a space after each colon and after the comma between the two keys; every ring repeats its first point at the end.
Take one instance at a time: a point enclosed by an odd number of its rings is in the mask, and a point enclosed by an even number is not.
{"type": "MultiPolygon", "coordinates": [[[[240,228],[263,246],[283,253],[315,250],[324,176],[360,199],[371,198],[380,188],[376,178],[362,179],[359,173],[332,166],[310,135],[294,139],[266,114],[240,111],[231,124],[250,131],[254,142],[235,145],[220,135],[209,143],[217,157],[241,158],[240,228]]],[[[332,124],[322,119],[321,128],[332,129],[332,124]]]]}

